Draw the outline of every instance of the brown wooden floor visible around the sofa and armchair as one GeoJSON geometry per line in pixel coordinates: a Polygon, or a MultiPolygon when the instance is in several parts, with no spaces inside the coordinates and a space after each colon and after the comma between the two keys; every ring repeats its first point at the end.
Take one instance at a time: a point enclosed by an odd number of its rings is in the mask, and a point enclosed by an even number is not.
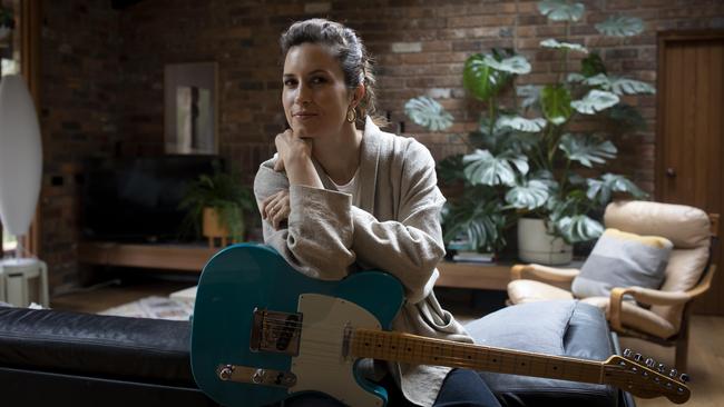
{"type": "MultiPolygon", "coordinates": [[[[193,286],[189,281],[146,280],[111,285],[90,291],[57,296],[51,299],[56,309],[81,312],[98,312],[121,304],[148,296],[168,296],[170,292],[193,286]]],[[[461,321],[480,316],[480,309],[471,309],[470,297],[453,299],[454,292],[443,292],[440,301],[461,321]]],[[[459,296],[460,297],[460,296],[459,296]]],[[[473,306],[474,307],[474,306],[473,306]]],[[[692,398],[687,407],[724,407],[724,317],[694,316],[689,343],[688,374],[692,398]]],[[[622,348],[630,348],[647,357],[653,357],[667,366],[673,366],[674,349],[665,348],[638,339],[622,338],[622,348]]],[[[665,398],[636,399],[638,407],[673,406],[665,398]]]]}

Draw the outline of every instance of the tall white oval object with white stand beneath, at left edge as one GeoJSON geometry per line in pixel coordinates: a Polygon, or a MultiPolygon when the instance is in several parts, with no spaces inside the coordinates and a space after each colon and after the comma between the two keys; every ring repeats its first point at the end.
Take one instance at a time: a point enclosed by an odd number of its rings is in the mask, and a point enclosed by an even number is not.
{"type": "MultiPolygon", "coordinates": [[[[0,81],[0,218],[6,230],[19,237],[30,228],[42,178],[40,126],[20,76],[8,75],[0,81]]],[[[0,300],[19,307],[39,300],[48,306],[47,266],[23,258],[21,241],[16,258],[0,260],[0,300]]]]}

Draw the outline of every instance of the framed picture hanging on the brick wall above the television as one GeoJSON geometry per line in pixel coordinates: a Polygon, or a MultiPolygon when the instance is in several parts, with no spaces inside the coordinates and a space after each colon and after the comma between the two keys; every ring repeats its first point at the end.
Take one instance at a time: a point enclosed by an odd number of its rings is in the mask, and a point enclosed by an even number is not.
{"type": "Polygon", "coordinates": [[[216,62],[164,69],[166,153],[217,153],[216,62]]]}

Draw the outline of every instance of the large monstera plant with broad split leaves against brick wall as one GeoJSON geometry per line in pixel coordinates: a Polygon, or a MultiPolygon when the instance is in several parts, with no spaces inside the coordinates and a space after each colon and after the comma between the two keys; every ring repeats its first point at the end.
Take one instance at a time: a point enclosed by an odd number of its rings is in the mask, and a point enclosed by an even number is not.
{"type": "MultiPolygon", "coordinates": [[[[546,0],[538,3],[538,10],[568,26],[581,18],[585,7],[546,0]]],[[[638,34],[643,27],[642,20],[627,17],[596,24],[601,34],[615,37],[638,34]]],[[[516,86],[516,78],[531,70],[524,56],[492,50],[473,54],[464,63],[463,86],[487,109],[478,129],[461,136],[468,153],[450,156],[438,165],[441,182],[463,187],[461,193],[449,197],[442,218],[446,242],[456,241],[457,248],[500,251],[507,244],[505,231],[530,216],[544,219],[548,232],[567,244],[589,241],[603,232],[595,214],[615,193],[645,196],[626,177],[601,167],[616,158],[617,149],[609,140],[614,132],[645,126],[622,96],[654,93],[655,89],[610,75],[601,58],[583,44],[546,39],[540,47],[555,50],[564,68],[569,54],[584,54],[580,70],[562,71],[552,83],[516,86]],[[502,98],[511,87],[515,97],[502,98]],[[580,121],[593,123],[584,128],[596,130],[569,130],[580,121]]],[[[409,100],[405,113],[432,131],[452,123],[450,113],[427,97],[409,100]]]]}

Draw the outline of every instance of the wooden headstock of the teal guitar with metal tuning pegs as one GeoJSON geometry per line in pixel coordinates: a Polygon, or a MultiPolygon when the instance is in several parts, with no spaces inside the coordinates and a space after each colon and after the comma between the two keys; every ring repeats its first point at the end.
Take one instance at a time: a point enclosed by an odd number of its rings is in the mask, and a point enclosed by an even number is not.
{"type": "Polygon", "coordinates": [[[682,404],[691,396],[686,386],[688,375],[679,375],[676,369],[630,349],[624,350],[623,357],[614,355],[604,363],[604,381],[642,398],[665,396],[672,403],[682,404]]]}

